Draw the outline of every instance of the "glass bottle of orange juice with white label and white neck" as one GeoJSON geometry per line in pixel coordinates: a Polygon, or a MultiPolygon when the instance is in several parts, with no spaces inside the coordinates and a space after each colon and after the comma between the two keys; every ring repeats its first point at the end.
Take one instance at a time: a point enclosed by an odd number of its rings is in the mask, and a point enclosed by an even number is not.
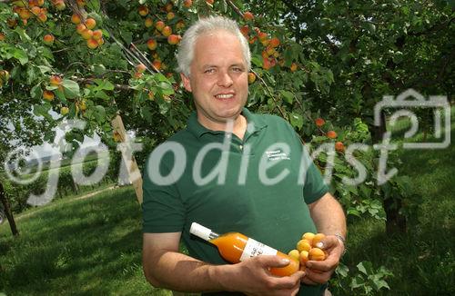
{"type": "Polygon", "coordinates": [[[227,232],[220,235],[197,222],[191,223],[189,232],[207,242],[215,244],[221,257],[231,263],[238,263],[239,261],[244,261],[258,255],[277,255],[283,259],[288,259],[289,264],[285,267],[270,268],[272,274],[288,276],[298,271],[299,262],[297,260],[289,257],[285,253],[270,248],[261,242],[248,238],[242,233],[227,232]]]}

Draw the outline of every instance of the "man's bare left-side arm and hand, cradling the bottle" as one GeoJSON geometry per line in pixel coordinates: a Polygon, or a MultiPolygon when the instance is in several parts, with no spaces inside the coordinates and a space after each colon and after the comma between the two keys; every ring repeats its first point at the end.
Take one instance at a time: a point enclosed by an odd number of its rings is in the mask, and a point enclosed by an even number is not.
{"type": "Polygon", "coordinates": [[[178,252],[180,232],[144,233],[143,268],[153,286],[174,291],[243,291],[251,295],[294,295],[303,272],[275,277],[269,267],[288,262],[258,256],[238,264],[211,265],[178,252]]]}

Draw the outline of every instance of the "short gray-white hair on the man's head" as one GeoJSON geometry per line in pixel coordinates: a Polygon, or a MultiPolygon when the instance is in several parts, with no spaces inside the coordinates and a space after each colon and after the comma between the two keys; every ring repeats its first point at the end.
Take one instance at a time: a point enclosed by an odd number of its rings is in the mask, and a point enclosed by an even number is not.
{"type": "Polygon", "coordinates": [[[189,67],[191,62],[193,62],[197,37],[219,30],[227,31],[238,37],[249,71],[251,69],[251,53],[249,52],[248,40],[242,35],[240,29],[238,29],[237,23],[224,16],[208,16],[207,18],[199,19],[195,24],[191,25],[185,35],[183,35],[177,52],[177,72],[181,72],[189,77],[189,67]]]}

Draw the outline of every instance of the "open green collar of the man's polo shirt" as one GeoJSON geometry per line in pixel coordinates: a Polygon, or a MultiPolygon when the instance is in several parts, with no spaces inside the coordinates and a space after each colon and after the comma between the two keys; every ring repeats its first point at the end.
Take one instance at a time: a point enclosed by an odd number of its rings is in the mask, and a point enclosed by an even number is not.
{"type": "MultiPolygon", "coordinates": [[[[255,133],[264,127],[267,126],[267,123],[264,121],[264,119],[259,116],[258,114],[251,113],[247,108],[242,109],[242,115],[247,118],[247,133],[255,133]]],[[[198,138],[204,135],[205,133],[211,133],[211,134],[224,134],[224,131],[212,131],[207,129],[205,126],[203,126],[201,123],[197,121],[197,113],[196,111],[191,113],[191,115],[188,118],[187,121],[187,130],[190,133],[193,133],[195,136],[198,138]]]]}

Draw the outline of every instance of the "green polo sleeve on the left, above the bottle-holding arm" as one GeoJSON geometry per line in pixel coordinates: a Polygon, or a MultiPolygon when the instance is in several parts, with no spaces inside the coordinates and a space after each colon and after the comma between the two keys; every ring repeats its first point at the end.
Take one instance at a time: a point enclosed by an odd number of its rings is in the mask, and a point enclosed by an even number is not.
{"type": "Polygon", "coordinates": [[[150,163],[148,158],[144,166],[142,203],[143,232],[181,232],[185,223],[185,208],[177,190],[176,183],[158,184],[150,177],[151,165],[159,165],[159,172],[163,176],[170,170],[167,160],[160,163],[150,163]]]}

